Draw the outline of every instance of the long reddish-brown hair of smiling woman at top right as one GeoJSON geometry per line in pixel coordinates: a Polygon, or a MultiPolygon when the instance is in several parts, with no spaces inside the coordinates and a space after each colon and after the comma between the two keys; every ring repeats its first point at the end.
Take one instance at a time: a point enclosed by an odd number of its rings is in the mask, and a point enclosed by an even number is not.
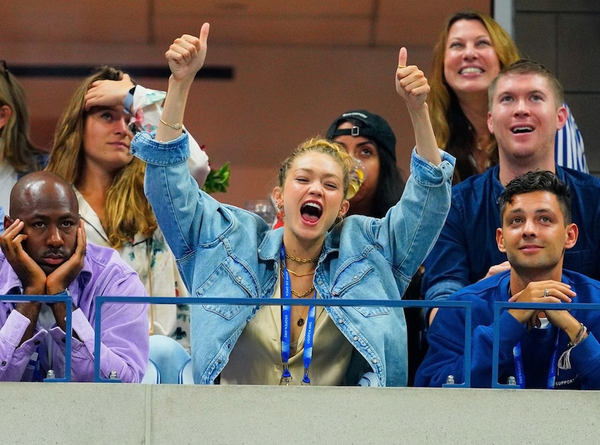
{"type": "MultiPolygon", "coordinates": [[[[475,10],[456,12],[450,16],[441,32],[433,51],[432,70],[430,76],[431,92],[428,96],[433,130],[439,147],[456,157],[454,177],[462,181],[477,172],[469,160],[472,151],[477,147],[475,130],[469,119],[462,112],[456,94],[447,84],[444,77],[444,58],[449,29],[460,20],[476,20],[482,23],[491,37],[491,42],[498,56],[500,68],[519,60],[519,49],[512,38],[490,16],[475,10]]],[[[498,162],[497,144],[492,138],[488,148],[488,164],[498,162]]]]}

